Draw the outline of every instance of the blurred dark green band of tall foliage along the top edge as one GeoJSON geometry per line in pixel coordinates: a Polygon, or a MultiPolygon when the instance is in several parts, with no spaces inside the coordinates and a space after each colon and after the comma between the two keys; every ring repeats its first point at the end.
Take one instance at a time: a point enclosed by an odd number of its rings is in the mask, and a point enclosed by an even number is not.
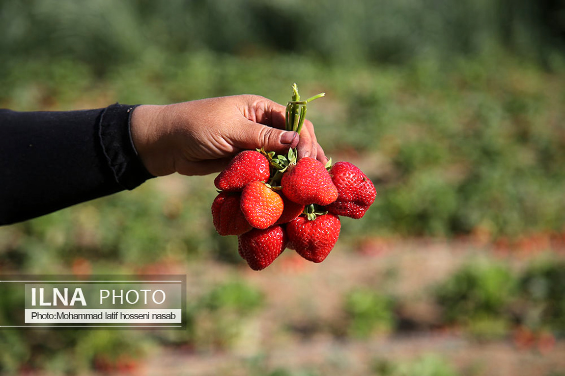
{"type": "Polygon", "coordinates": [[[550,0],[5,0],[0,50],[9,60],[71,57],[97,73],[146,50],[407,63],[499,44],[549,63],[563,47],[562,11],[550,0]]]}

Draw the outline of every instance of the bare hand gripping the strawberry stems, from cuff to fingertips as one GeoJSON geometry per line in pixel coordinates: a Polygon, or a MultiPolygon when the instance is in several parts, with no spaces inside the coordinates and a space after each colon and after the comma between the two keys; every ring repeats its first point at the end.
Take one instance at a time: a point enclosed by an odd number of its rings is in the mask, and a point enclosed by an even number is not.
{"type": "Polygon", "coordinates": [[[235,95],[170,105],[141,105],[131,119],[133,143],[154,176],[221,171],[234,154],[264,148],[327,162],[314,126],[285,131],[285,107],[258,95],[235,95]]]}

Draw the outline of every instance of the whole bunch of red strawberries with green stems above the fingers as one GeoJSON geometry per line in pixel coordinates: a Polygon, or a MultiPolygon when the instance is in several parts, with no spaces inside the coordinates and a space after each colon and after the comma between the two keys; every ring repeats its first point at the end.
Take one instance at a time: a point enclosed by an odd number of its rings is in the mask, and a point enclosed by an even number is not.
{"type": "MultiPolygon", "coordinates": [[[[299,132],[306,104],[296,84],[286,107],[286,130],[299,132]]],[[[323,165],[297,153],[243,151],[214,180],[220,190],[212,203],[220,235],[237,235],[238,251],[254,270],[269,266],[287,247],[322,262],[340,235],[339,216],[361,218],[376,190],[367,175],[349,162],[323,165]]]]}

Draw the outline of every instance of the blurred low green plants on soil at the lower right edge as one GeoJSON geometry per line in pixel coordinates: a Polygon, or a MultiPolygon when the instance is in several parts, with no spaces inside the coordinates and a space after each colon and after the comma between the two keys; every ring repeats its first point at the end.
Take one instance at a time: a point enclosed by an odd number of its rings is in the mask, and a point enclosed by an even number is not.
{"type": "Polygon", "coordinates": [[[477,338],[505,337],[512,326],[565,333],[565,263],[545,256],[516,272],[504,264],[466,264],[434,291],[442,322],[477,338]]]}

